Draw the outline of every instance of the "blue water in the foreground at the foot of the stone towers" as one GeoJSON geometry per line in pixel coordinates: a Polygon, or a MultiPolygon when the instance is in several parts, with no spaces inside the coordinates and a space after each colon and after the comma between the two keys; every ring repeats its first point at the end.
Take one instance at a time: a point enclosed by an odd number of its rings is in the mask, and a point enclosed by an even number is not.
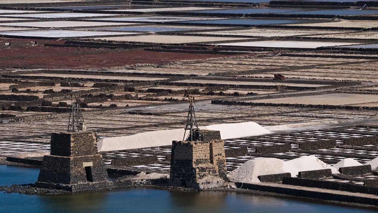
{"type": "MultiPolygon", "coordinates": [[[[0,165],[0,185],[35,182],[39,169],[0,165]]],[[[0,193],[0,212],[14,213],[372,213],[363,208],[212,191],[150,188],[65,195],[0,193]]]]}

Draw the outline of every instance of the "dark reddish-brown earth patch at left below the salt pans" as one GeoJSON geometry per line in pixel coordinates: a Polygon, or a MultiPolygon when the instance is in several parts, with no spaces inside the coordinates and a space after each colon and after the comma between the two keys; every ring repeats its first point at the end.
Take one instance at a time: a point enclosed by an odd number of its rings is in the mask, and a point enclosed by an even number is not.
{"type": "MultiPolygon", "coordinates": [[[[50,48],[42,48],[42,52],[51,52],[50,48]]],[[[22,52],[26,49],[22,49],[22,52]]],[[[33,54],[37,48],[34,48],[33,54]]],[[[88,51],[90,48],[55,48],[57,52],[88,51]]],[[[95,51],[96,49],[91,49],[95,51]]],[[[98,49],[97,49],[98,50],[98,49]]],[[[41,52],[41,54],[42,54],[41,52]]],[[[19,54],[12,52],[13,54],[19,54]]],[[[25,52],[23,52],[25,54],[25,52]]],[[[1,54],[3,55],[3,53],[1,54]]],[[[243,54],[246,55],[246,54],[243,54]]],[[[9,56],[9,55],[8,55],[9,56]]],[[[133,65],[137,63],[169,63],[179,60],[208,59],[217,57],[229,57],[235,55],[218,55],[218,54],[191,54],[177,52],[153,52],[153,51],[125,51],[125,52],[107,52],[94,54],[78,55],[60,55],[60,56],[36,56],[25,59],[11,59],[1,63],[4,68],[44,68],[44,69],[88,69],[88,68],[108,68],[114,66],[133,65]]]]}

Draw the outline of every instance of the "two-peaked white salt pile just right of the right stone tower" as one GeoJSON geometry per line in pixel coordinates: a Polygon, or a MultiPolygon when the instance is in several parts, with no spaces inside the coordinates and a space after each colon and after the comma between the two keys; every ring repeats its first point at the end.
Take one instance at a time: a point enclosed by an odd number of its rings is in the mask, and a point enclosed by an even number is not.
{"type": "Polygon", "coordinates": [[[282,161],[277,158],[261,157],[249,160],[228,174],[231,181],[243,183],[259,183],[259,175],[279,174],[290,172],[296,177],[299,171],[321,170],[329,168],[333,174],[338,174],[335,168],[325,164],[315,156],[299,157],[290,161],[282,161]]]}

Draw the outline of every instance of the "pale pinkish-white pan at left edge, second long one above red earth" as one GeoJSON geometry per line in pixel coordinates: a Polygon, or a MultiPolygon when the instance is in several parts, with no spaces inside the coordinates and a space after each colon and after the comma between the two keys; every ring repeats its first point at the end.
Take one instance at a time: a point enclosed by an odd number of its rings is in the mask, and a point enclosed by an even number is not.
{"type": "MultiPolygon", "coordinates": [[[[0,20],[1,19],[2,18],[0,18],[0,20]]],[[[116,25],[132,25],[132,24],[134,24],[134,23],[75,22],[75,21],[0,23],[0,25],[2,25],[2,26],[28,26],[28,27],[41,27],[41,28],[43,28],[43,27],[45,27],[45,28],[62,28],[62,27],[116,26],[116,25]]]]}

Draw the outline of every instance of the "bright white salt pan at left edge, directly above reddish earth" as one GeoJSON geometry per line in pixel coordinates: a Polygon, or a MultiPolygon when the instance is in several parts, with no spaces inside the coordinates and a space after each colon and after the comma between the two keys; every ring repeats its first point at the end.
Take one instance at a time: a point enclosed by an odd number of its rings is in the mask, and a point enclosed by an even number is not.
{"type": "Polygon", "coordinates": [[[131,35],[136,32],[102,32],[102,31],[76,31],[76,30],[36,30],[36,31],[18,31],[18,32],[0,32],[0,35],[13,35],[24,37],[48,37],[48,38],[65,38],[65,37],[90,37],[104,35],[131,35]]]}

